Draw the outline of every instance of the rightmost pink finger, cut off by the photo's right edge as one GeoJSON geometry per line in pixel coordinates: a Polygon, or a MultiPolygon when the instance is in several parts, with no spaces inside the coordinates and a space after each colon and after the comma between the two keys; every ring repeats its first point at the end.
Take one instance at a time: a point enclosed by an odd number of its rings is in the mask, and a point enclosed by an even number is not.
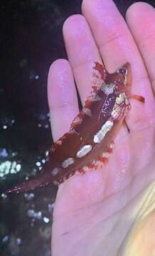
{"type": "Polygon", "coordinates": [[[145,3],[130,6],[126,14],[127,23],[146,64],[155,92],[155,10],[145,3]]]}

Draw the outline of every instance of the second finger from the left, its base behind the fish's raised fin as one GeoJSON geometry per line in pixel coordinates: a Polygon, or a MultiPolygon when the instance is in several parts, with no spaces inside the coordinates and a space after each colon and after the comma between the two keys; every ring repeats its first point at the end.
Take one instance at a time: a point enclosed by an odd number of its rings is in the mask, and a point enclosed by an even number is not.
{"type": "Polygon", "coordinates": [[[70,16],[63,25],[65,48],[73,68],[82,104],[92,90],[92,62],[102,63],[90,28],[82,15],[70,16]]]}

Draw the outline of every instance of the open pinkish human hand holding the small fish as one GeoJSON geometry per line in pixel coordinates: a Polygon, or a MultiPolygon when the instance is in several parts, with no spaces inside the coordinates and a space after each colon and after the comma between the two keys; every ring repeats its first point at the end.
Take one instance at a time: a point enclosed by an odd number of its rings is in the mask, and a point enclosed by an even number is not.
{"type": "Polygon", "coordinates": [[[52,250],[54,256],[121,255],[119,247],[141,208],[139,195],[155,178],[155,10],[133,4],[125,23],[113,1],[83,0],[82,14],[63,26],[69,62],[56,60],[48,75],[53,139],[68,132],[79,112],[74,79],[82,104],[90,95],[92,61],[103,61],[109,72],[129,61],[132,93],[144,96],[145,104],[131,100],[130,132],[122,127],[106,166],[59,186],[52,250]]]}

